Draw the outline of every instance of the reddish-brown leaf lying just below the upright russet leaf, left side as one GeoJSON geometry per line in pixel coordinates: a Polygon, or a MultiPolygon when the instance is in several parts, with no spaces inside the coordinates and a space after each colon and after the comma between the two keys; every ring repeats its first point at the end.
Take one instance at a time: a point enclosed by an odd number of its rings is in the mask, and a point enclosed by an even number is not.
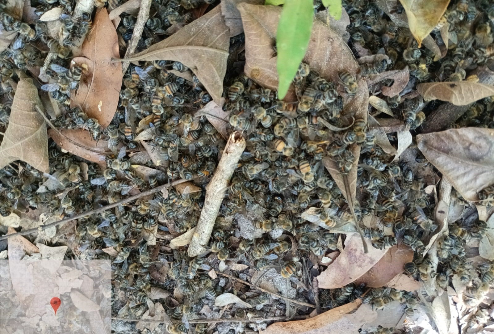
{"type": "Polygon", "coordinates": [[[105,156],[111,154],[106,140],[94,141],[87,130],[83,129],[61,129],[63,136],[53,129],[48,134],[60,148],[85,160],[97,164],[105,164],[105,156]]]}

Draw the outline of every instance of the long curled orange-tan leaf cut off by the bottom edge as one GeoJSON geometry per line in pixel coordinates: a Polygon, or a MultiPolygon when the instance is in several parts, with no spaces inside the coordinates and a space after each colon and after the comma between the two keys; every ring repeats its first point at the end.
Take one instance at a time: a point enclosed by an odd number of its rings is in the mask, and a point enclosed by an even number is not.
{"type": "Polygon", "coordinates": [[[353,303],[335,307],[313,318],[274,323],[261,334],[340,334],[358,333],[377,317],[368,305],[357,299],[353,303]]]}

